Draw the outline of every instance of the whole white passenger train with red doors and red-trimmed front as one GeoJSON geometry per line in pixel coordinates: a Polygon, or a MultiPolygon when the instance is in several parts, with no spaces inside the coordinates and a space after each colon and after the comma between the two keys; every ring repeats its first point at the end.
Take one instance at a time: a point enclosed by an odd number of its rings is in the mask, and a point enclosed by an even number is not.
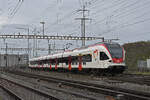
{"type": "Polygon", "coordinates": [[[29,60],[29,67],[52,71],[121,74],[127,68],[125,50],[116,42],[99,42],[29,60]]]}

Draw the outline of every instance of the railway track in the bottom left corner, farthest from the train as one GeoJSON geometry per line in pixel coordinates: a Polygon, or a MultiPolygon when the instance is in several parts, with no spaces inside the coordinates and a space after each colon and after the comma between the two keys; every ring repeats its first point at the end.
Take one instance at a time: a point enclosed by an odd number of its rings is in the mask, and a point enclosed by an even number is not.
{"type": "Polygon", "coordinates": [[[3,89],[16,97],[15,100],[37,100],[37,98],[42,98],[44,100],[61,100],[59,97],[51,96],[50,94],[33,88],[31,85],[27,85],[19,80],[1,76],[0,82],[3,89]],[[31,96],[31,94],[34,96],[31,96]]]}

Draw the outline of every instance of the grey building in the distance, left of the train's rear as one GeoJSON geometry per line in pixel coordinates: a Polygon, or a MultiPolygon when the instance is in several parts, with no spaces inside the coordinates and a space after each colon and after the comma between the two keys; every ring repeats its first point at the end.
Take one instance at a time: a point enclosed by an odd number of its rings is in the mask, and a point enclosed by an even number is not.
{"type": "Polygon", "coordinates": [[[28,64],[28,55],[0,54],[0,67],[18,67],[28,64]]]}

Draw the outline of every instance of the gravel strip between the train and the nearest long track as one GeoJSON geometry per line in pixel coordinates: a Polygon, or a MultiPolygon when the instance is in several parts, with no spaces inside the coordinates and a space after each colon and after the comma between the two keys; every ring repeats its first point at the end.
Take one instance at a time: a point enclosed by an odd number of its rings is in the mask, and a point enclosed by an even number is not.
{"type": "Polygon", "coordinates": [[[45,71],[35,71],[35,70],[26,70],[28,72],[32,72],[35,74],[41,74],[41,75],[47,75],[57,78],[63,78],[63,79],[70,79],[70,80],[79,80],[84,82],[91,82],[95,84],[102,84],[102,85],[108,85],[108,86],[114,86],[114,87],[121,87],[125,89],[131,89],[136,91],[144,91],[150,93],[150,86],[147,85],[139,85],[135,83],[128,83],[128,82],[120,82],[120,81],[114,81],[109,80],[106,77],[95,77],[91,75],[81,75],[81,74],[72,74],[72,73],[60,73],[60,72],[45,72],[45,71]]]}

